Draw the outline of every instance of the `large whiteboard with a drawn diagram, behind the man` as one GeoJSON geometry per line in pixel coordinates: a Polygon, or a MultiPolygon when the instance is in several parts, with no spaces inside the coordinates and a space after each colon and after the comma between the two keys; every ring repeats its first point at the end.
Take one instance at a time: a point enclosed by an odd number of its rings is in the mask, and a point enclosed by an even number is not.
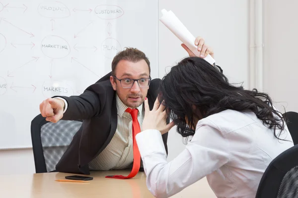
{"type": "Polygon", "coordinates": [[[30,148],[42,100],[81,94],[125,47],[158,77],[157,0],[0,0],[0,149],[30,148]]]}

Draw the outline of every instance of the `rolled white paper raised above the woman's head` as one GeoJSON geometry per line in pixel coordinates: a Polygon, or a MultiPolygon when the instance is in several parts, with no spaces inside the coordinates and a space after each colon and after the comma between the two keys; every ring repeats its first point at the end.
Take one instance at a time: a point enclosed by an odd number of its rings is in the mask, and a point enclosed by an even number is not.
{"type": "MultiPolygon", "coordinates": [[[[184,43],[196,56],[200,55],[198,47],[195,45],[196,38],[187,30],[182,22],[176,17],[176,15],[170,10],[161,10],[162,17],[159,19],[178,39],[184,43]]],[[[208,54],[204,58],[210,64],[215,63],[215,59],[208,54]]]]}

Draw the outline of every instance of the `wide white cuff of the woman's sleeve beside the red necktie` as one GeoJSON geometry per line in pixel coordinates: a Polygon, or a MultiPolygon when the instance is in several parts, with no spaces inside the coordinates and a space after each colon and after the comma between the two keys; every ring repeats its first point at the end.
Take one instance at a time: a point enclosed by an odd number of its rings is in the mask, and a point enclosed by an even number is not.
{"type": "Polygon", "coordinates": [[[163,152],[166,154],[161,133],[158,130],[149,129],[136,135],[136,141],[141,156],[146,156],[154,152],[163,152]]]}

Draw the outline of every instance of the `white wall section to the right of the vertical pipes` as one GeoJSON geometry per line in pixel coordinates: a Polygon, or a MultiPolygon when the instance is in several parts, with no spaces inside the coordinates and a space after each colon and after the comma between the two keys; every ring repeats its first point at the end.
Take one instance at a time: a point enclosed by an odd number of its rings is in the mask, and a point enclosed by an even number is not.
{"type": "Polygon", "coordinates": [[[281,112],[298,112],[297,7],[297,0],[263,1],[264,91],[281,112]]]}

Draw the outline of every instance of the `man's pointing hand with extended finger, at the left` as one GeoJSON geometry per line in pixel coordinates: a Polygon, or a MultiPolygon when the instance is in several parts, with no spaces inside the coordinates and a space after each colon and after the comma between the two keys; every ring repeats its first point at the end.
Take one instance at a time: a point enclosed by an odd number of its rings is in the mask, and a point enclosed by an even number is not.
{"type": "Polygon", "coordinates": [[[40,113],[47,121],[58,122],[63,117],[64,101],[62,99],[46,99],[39,105],[40,113]]]}

